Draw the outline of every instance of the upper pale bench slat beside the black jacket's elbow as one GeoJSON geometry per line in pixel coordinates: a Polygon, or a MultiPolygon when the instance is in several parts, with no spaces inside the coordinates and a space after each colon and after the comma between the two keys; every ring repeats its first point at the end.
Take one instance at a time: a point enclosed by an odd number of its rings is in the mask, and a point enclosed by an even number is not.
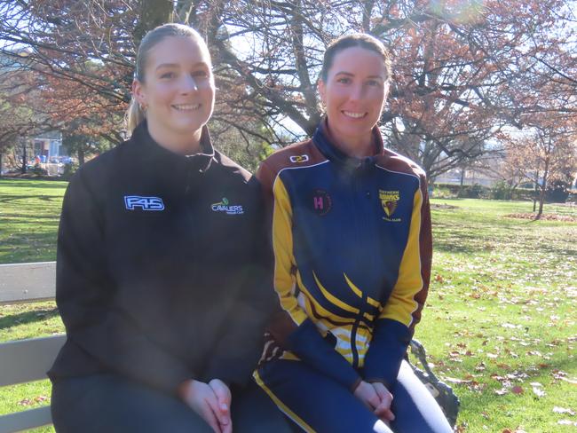
{"type": "Polygon", "coordinates": [[[0,304],[53,299],[56,262],[0,264],[0,304]]]}

